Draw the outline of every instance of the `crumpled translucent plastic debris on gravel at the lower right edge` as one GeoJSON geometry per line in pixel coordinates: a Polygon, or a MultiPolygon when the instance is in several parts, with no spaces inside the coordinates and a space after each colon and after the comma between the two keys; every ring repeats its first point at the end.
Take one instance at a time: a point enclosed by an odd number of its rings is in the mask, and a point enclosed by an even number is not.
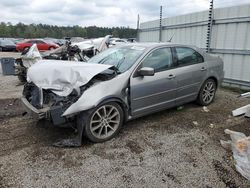
{"type": "Polygon", "coordinates": [[[236,170],[250,180],[250,136],[229,129],[225,129],[225,133],[230,135],[231,140],[221,140],[221,145],[227,150],[231,148],[236,170]]]}

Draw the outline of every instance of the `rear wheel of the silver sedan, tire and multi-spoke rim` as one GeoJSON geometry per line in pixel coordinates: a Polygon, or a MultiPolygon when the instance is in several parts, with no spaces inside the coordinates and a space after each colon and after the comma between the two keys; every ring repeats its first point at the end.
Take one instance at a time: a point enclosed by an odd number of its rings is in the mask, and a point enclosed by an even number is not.
{"type": "Polygon", "coordinates": [[[197,97],[197,103],[202,106],[207,106],[214,101],[217,85],[214,79],[207,79],[201,86],[197,97]],[[211,88],[210,88],[211,87],[211,88]],[[206,97],[207,96],[207,97],[206,97]]]}

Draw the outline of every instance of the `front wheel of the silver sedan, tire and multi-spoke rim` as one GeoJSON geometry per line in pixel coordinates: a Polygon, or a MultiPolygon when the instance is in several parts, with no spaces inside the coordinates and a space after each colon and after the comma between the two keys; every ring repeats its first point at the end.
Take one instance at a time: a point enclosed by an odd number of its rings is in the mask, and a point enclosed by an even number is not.
{"type": "Polygon", "coordinates": [[[102,104],[90,112],[85,125],[85,135],[92,142],[110,140],[119,132],[123,118],[123,110],[119,104],[102,104]]]}

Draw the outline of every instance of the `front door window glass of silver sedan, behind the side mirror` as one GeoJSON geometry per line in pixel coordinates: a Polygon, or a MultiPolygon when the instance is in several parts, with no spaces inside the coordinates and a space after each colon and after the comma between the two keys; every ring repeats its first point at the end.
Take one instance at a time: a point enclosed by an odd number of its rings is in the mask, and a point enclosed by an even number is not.
{"type": "Polygon", "coordinates": [[[167,70],[172,65],[170,48],[159,48],[151,52],[142,63],[142,67],[154,68],[155,72],[167,70]]]}

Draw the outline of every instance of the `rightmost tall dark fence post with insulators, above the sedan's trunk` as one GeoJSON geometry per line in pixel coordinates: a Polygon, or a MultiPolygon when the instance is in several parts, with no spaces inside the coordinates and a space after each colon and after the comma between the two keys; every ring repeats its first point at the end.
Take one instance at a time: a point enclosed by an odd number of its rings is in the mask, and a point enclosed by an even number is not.
{"type": "Polygon", "coordinates": [[[208,11],[208,24],[207,24],[207,42],[206,42],[206,52],[211,51],[211,38],[212,38],[212,26],[214,21],[214,2],[210,1],[209,11],[208,11]]]}

